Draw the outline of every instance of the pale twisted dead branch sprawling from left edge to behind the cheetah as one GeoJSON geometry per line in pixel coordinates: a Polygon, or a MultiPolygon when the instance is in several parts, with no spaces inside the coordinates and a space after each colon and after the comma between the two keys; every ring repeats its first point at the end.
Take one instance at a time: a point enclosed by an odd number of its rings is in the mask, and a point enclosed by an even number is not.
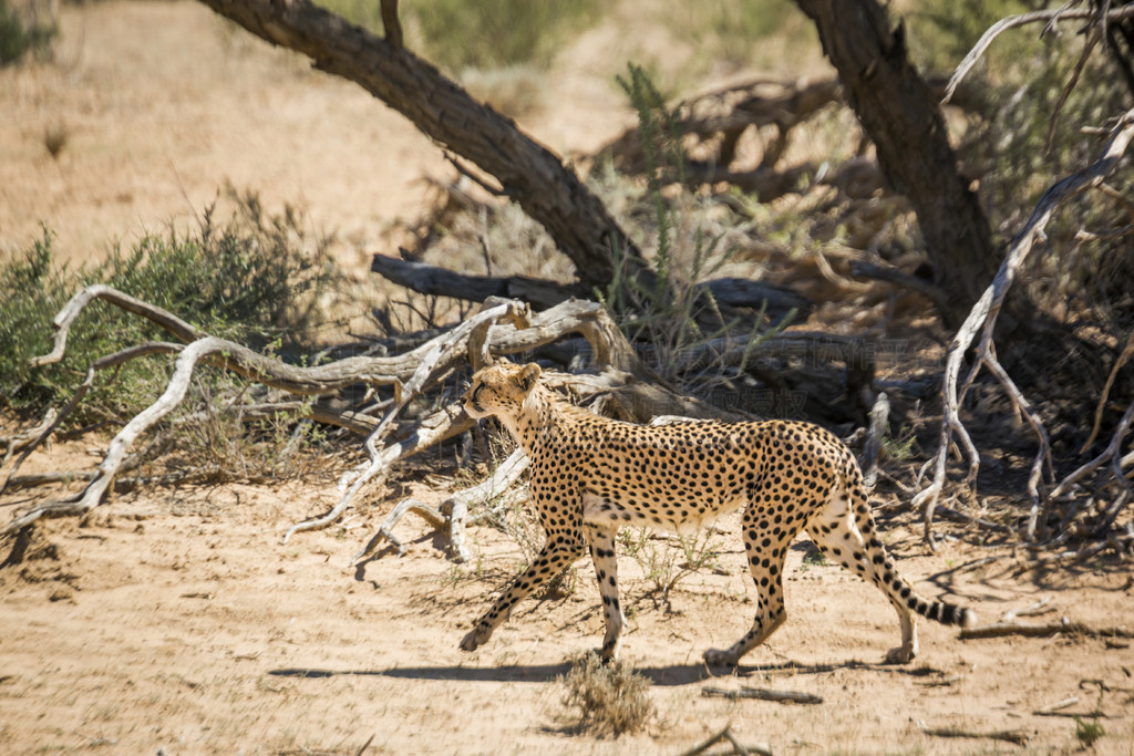
{"type": "MultiPolygon", "coordinates": [[[[280,401],[277,398],[256,405],[244,404],[235,407],[234,411],[247,413],[249,416],[294,411],[306,416],[310,421],[338,425],[365,436],[363,448],[366,461],[342,476],[338,502],[320,517],[291,526],[284,536],[285,541],[296,533],[325,527],[339,519],[357,499],[363,486],[382,478],[398,460],[472,427],[472,419],[465,415],[459,402],[451,399],[445,401],[439,410],[423,418],[407,422],[400,417],[409,402],[422,397],[443,376],[465,365],[475,369],[497,356],[536,349],[569,334],[581,335],[587,341],[592,362],[599,372],[590,375],[549,375],[553,385],[579,397],[602,399],[611,411],[629,419],[649,419],[659,413],[700,417],[728,416],[728,413],[717,411],[696,400],[680,397],[663,385],[658,385],[653,380],[655,376],[640,364],[633,348],[606,309],[599,304],[579,300],[565,301],[542,313],[532,314],[527,305],[522,301],[490,297],[484,308],[465,322],[431,334],[424,341],[407,340],[406,345],[409,348],[403,354],[352,356],[323,365],[304,367],[265,357],[243,345],[210,335],[161,307],[100,284],[76,294],[54,317],[52,350],[37,357],[34,360],[36,366],[62,359],[73,324],[87,305],[99,299],[155,323],[185,343],[146,342],[92,363],[84,382],[67,406],[58,414],[45,416],[41,425],[32,432],[20,435],[19,444],[23,452],[7,472],[6,483],[14,478],[19,462],[50,438],[82,401],[100,371],[117,367],[143,355],[169,354],[176,355],[174,375],[162,396],[115,435],[102,462],[94,472],[81,472],[78,475],[62,477],[39,476],[34,481],[19,478],[20,486],[76,478],[85,479],[86,485],[73,495],[37,503],[17,512],[10,523],[0,528],[0,535],[18,532],[42,517],[83,516],[102,503],[116,476],[136,466],[138,456],[128,457],[129,450],[142,435],[150,433],[184,400],[192,375],[201,364],[230,371],[286,394],[308,398],[302,402],[280,401]],[[383,410],[380,419],[333,406],[331,401],[333,397],[341,390],[359,383],[366,384],[372,391],[378,387],[388,387],[388,390],[392,388],[392,398],[372,406],[372,409],[383,410]]],[[[10,443],[9,449],[14,445],[10,443]]],[[[468,559],[463,528],[469,506],[491,495],[490,489],[497,492],[506,490],[523,468],[524,464],[521,460],[510,460],[497,478],[456,494],[437,512],[434,524],[440,523],[449,528],[457,559],[466,561],[468,559]]],[[[380,532],[395,544],[398,542],[392,537],[391,528],[397,517],[405,511],[416,511],[426,518],[430,515],[428,508],[413,502],[403,502],[380,532]]]]}

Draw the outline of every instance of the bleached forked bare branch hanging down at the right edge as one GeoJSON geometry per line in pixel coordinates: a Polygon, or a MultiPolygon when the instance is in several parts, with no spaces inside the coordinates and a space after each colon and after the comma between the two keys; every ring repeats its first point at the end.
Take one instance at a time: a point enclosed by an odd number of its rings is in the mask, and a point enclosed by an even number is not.
{"type": "MultiPolygon", "coordinates": [[[[1027,419],[1038,440],[1035,458],[1032,461],[1031,474],[1027,479],[1027,493],[1032,501],[1031,512],[1029,515],[1024,534],[1027,542],[1035,542],[1036,525],[1040,519],[1041,508],[1044,503],[1047,507],[1050,507],[1051,503],[1058,499],[1059,495],[1068,491],[1075,482],[1108,460],[1117,460],[1114,473],[1117,481],[1119,481],[1123,485],[1123,493],[1119,495],[1119,500],[1114,507],[1115,517],[1117,517],[1118,511],[1128,498],[1128,483],[1123,474],[1123,464],[1118,451],[1129,427],[1129,416],[1132,410],[1134,410],[1134,405],[1132,405],[1132,408],[1127,410],[1126,416],[1124,416],[1124,422],[1119,423],[1119,426],[1116,428],[1115,435],[1103,455],[1095,460],[1092,460],[1092,462],[1084,465],[1080,468],[1080,470],[1072,473],[1072,475],[1067,476],[1067,478],[1057,485],[1050,494],[1044,495],[1041,492],[1041,486],[1044,483],[1044,479],[1053,483],[1055,477],[1055,469],[1051,461],[1050,438],[1034,407],[1031,402],[1029,402],[1027,398],[1024,397],[1023,392],[1021,392],[1019,388],[1015,384],[1007,371],[1005,371],[1004,366],[997,359],[996,346],[993,343],[993,332],[996,329],[997,316],[1004,306],[1005,298],[1007,297],[1009,289],[1019,273],[1021,266],[1027,258],[1029,253],[1031,253],[1033,245],[1038,240],[1042,240],[1044,238],[1043,229],[1055,214],[1056,210],[1058,210],[1070,197],[1101,185],[1123,158],[1132,138],[1134,138],[1134,109],[1128,110],[1118,119],[1117,125],[1112,128],[1110,137],[1102,150],[1101,156],[1094,163],[1060,181],[1057,181],[1040,198],[1035,210],[1032,212],[1032,215],[1024,224],[1024,228],[1013,239],[1004,263],[1000,265],[1000,270],[997,272],[991,286],[985,289],[984,294],[973,306],[968,317],[965,318],[964,323],[960,325],[949,345],[949,351],[946,358],[945,381],[941,389],[943,417],[941,421],[940,440],[937,453],[930,459],[929,462],[926,462],[926,467],[929,467],[929,465],[933,466],[933,477],[931,483],[920,491],[916,496],[914,496],[913,502],[915,507],[924,509],[924,537],[931,546],[933,546],[934,543],[932,534],[934,508],[945,489],[946,475],[948,472],[948,456],[955,441],[960,443],[963,455],[968,458],[968,467],[964,479],[965,487],[971,489],[973,486],[976,479],[976,474],[980,470],[979,452],[976,451],[976,447],[973,444],[968,432],[965,430],[965,426],[960,421],[960,405],[965,400],[970,388],[972,388],[973,382],[982,367],[988,368],[989,372],[997,379],[1017,414],[1023,415],[1027,419]],[[976,340],[978,334],[980,335],[980,341],[972,358],[972,367],[970,368],[964,382],[960,383],[962,362],[964,360],[968,349],[972,347],[974,340],[976,340]]],[[[1109,521],[1114,521],[1114,519],[1110,518],[1109,521]]]]}

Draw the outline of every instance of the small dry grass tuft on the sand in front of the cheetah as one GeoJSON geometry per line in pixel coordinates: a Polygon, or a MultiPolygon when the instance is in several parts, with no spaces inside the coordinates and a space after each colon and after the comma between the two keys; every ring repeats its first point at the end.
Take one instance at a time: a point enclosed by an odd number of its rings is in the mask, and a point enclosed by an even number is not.
{"type": "Polygon", "coordinates": [[[650,681],[620,660],[603,664],[598,655],[583,654],[572,662],[562,682],[574,730],[617,738],[644,730],[655,714],[650,681]]]}

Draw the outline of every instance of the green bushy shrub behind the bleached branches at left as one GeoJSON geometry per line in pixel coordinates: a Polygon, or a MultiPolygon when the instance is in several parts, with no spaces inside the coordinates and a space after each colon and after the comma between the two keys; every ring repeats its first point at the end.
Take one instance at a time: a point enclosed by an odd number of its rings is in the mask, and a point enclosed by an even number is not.
{"type": "MultiPolygon", "coordinates": [[[[73,325],[64,360],[33,371],[28,360],[51,349],[54,315],[93,283],[254,347],[302,338],[315,313],[315,295],[332,278],[325,255],[304,249],[293,214],[265,219],[254,197],[246,197],[244,207],[242,218],[226,224],[208,212],[196,233],[150,235],[77,271],[57,263],[46,230],[28,249],[0,257],[0,406],[40,411],[59,405],[94,359],[143,341],[170,340],[149,321],[96,301],[73,325]]],[[[164,389],[169,371],[168,358],[150,357],[100,376],[75,421],[136,414],[164,389]]]]}

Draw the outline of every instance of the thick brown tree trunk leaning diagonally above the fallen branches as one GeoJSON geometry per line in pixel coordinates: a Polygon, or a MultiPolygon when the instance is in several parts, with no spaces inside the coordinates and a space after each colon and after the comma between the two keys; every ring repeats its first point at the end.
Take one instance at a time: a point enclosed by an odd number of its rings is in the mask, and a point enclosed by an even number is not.
{"type": "Polygon", "coordinates": [[[355,82],[496,177],[497,192],[548,230],[584,284],[610,281],[615,248],[626,255],[632,274],[652,283],[637,246],[558,155],[406,50],[389,22],[382,40],[308,0],[202,2],[256,36],[310,57],[315,68],[355,82]]]}

